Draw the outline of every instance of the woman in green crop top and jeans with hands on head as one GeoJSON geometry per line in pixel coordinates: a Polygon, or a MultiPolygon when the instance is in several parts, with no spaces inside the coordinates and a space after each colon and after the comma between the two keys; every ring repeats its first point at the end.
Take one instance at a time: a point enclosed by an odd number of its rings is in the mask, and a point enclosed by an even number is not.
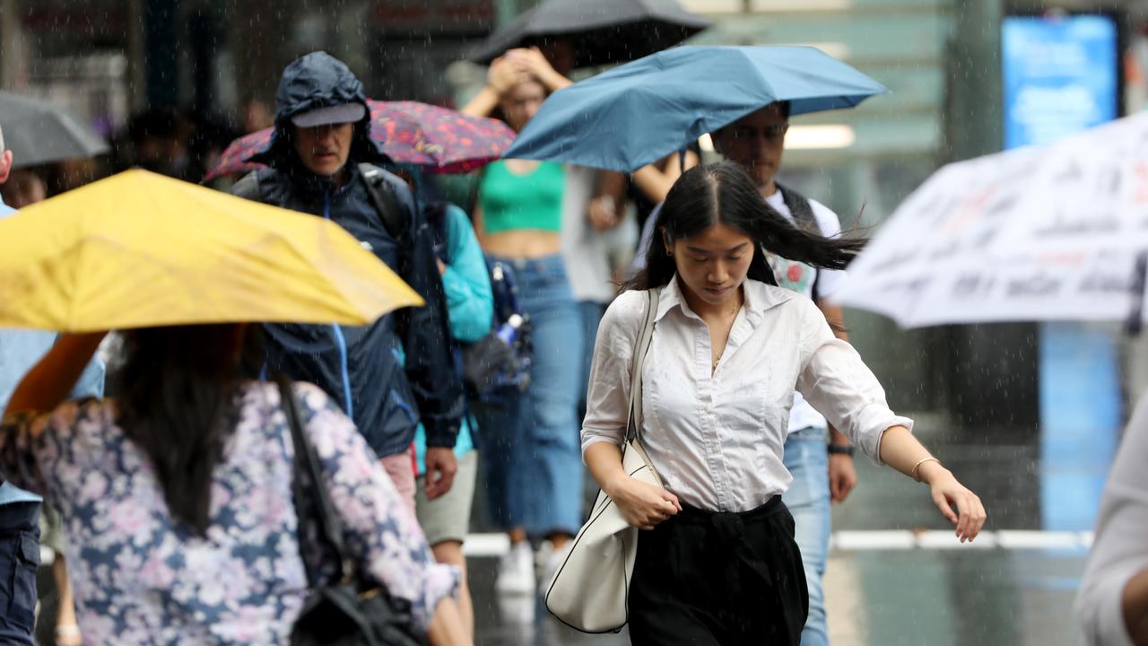
{"type": "MultiPolygon", "coordinates": [[[[566,85],[569,80],[538,49],[512,49],[494,61],[487,87],[461,111],[494,111],[519,132],[546,95],[566,85]]],[[[572,368],[583,363],[585,330],[564,244],[571,205],[580,202],[584,221],[592,175],[554,162],[504,159],[487,166],[479,183],[475,233],[488,256],[513,268],[534,348],[527,390],[503,409],[483,410],[479,420],[487,429],[488,508],[511,540],[496,580],[496,590],[507,594],[536,589],[532,540],[549,544],[546,578],[582,522],[577,405],[583,386],[581,370],[572,368]]]]}

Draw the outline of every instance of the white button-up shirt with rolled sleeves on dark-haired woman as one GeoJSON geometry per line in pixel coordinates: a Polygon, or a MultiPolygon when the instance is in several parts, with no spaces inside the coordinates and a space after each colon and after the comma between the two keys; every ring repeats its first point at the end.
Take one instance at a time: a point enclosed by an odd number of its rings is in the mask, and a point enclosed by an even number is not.
{"type": "MultiPolygon", "coordinates": [[[[746,280],[716,371],[709,330],[670,280],[658,303],[642,371],[642,443],[666,489],[690,506],[746,512],[784,492],[782,463],[797,390],[879,463],[885,429],[913,421],[885,403],[885,392],[850,344],[833,337],[807,298],[746,280]]],[[[630,359],[646,295],[629,291],[598,328],[582,451],[621,445],[629,409],[630,359]]]]}

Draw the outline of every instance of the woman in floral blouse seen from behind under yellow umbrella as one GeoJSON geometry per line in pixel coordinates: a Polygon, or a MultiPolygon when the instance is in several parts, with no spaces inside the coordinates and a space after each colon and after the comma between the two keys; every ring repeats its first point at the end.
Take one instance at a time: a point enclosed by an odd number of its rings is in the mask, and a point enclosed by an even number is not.
{"type": "MultiPolygon", "coordinates": [[[[13,393],[0,471],[60,509],[85,640],[286,644],[304,561],[338,571],[301,536],[287,415],[276,384],[245,378],[246,330],[126,331],[119,397],[61,403],[103,338],[64,336],[13,393]]],[[[456,572],[354,423],[316,386],[293,393],[355,562],[432,643],[467,643],[456,572]]]]}

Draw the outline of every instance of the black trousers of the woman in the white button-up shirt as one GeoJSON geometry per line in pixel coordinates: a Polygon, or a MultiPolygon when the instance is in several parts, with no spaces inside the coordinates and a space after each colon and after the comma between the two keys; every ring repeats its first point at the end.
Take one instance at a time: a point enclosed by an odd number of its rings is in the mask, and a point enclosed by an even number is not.
{"type": "Polygon", "coordinates": [[[808,613],[793,516],[779,495],[740,514],[687,507],[641,532],[635,646],[798,646],[808,613]]]}

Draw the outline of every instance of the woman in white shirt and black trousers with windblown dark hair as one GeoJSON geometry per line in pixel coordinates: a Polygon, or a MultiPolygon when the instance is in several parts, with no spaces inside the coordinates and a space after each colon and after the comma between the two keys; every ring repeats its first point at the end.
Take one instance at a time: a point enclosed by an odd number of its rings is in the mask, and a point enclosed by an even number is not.
{"type": "Polygon", "coordinates": [[[912,420],[889,409],[817,307],[773,285],[765,256],[840,269],[860,247],[797,229],[730,162],[687,171],[667,195],[645,270],[598,330],[582,429],[595,479],[646,530],[628,599],[634,644],[799,643],[806,582],[781,500],[792,479],[782,447],[794,390],[872,460],[926,483],[962,541],[980,531],[979,499],[913,437],[912,420]],[[665,489],[621,466],[646,290],[657,309],[641,367],[641,437],[665,489]]]}

